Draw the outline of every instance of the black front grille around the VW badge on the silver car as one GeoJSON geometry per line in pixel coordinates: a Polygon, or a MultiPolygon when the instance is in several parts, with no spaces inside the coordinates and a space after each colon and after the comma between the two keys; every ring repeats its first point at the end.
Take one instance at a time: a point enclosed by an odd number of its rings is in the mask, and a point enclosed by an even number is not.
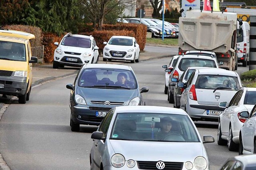
{"type": "MultiPolygon", "coordinates": [[[[137,161],[138,168],[143,170],[157,170],[157,161],[137,161]]],[[[164,162],[163,170],[182,170],[183,162],[164,162]]]]}

